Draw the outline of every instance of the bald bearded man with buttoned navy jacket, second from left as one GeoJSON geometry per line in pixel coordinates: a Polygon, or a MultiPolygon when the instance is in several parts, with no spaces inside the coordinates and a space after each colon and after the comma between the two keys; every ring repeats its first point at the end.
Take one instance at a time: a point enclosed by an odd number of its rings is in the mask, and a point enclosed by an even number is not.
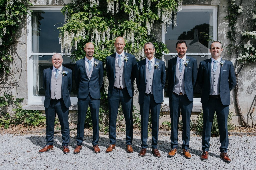
{"type": "Polygon", "coordinates": [[[82,149],[84,137],[84,122],[88,104],[92,117],[92,145],[94,153],[100,153],[99,141],[99,112],[100,112],[100,88],[103,83],[103,63],[93,57],[94,45],[87,43],[84,47],[86,57],[76,62],[75,81],[78,88],[78,123],[77,146],[74,153],[82,149]]]}

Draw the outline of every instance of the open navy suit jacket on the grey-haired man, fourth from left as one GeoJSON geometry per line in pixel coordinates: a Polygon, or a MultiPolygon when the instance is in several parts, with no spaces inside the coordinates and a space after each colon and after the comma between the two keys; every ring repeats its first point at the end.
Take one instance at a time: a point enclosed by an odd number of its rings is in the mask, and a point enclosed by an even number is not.
{"type": "MultiPolygon", "coordinates": [[[[156,62],[159,62],[159,66],[153,68],[153,96],[156,103],[162,103],[164,101],[163,89],[166,81],[166,67],[164,61],[155,58],[154,65],[156,62]]],[[[139,103],[143,103],[146,93],[146,59],[138,61],[138,68],[136,82],[139,90],[139,103]]]]}

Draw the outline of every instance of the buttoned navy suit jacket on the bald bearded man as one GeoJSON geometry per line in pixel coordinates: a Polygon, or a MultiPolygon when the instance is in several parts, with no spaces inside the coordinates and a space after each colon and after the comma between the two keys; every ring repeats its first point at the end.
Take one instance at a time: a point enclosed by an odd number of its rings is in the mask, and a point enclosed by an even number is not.
{"type": "Polygon", "coordinates": [[[100,88],[103,83],[103,63],[94,58],[94,61],[99,62],[99,64],[95,67],[93,64],[93,70],[91,79],[88,78],[85,67],[85,58],[76,61],[75,66],[75,82],[78,86],[78,95],[77,98],[85,99],[88,97],[89,93],[92,98],[100,99],[100,88]]]}

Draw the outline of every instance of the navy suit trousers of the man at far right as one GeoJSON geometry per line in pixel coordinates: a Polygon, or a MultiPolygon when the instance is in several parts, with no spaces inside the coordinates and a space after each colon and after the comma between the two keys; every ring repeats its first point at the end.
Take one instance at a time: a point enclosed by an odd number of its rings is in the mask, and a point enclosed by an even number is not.
{"type": "Polygon", "coordinates": [[[204,129],[202,138],[202,150],[209,151],[211,128],[216,111],[220,132],[220,152],[228,151],[228,114],[229,105],[223,105],[220,98],[209,97],[207,103],[202,103],[204,112],[204,129]]]}

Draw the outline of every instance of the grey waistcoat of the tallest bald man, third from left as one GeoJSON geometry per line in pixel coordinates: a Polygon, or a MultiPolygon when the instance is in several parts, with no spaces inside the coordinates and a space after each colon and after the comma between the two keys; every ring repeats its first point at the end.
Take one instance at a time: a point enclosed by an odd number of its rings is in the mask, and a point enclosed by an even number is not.
{"type": "Polygon", "coordinates": [[[118,62],[115,59],[115,84],[116,88],[125,88],[125,80],[124,80],[124,62],[122,63],[122,67],[120,68],[118,62]]]}

